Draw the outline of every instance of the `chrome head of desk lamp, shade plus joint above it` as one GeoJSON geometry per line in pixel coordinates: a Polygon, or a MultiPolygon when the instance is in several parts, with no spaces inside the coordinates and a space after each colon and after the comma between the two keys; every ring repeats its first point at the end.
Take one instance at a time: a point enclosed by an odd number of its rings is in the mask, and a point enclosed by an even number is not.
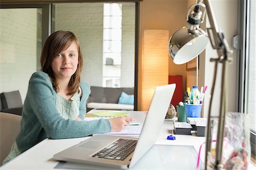
{"type": "Polygon", "coordinates": [[[203,3],[192,5],[187,14],[187,27],[176,31],[170,38],[169,55],[175,64],[187,63],[204,51],[209,41],[205,31],[200,28],[205,13],[203,3]],[[203,7],[203,12],[200,7],[203,7]]]}

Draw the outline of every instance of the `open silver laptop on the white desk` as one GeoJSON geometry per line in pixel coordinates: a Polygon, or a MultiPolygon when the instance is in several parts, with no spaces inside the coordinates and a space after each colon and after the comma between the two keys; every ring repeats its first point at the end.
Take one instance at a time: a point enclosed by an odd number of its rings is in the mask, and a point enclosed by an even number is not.
{"type": "Polygon", "coordinates": [[[122,169],[133,167],[158,139],[175,87],[176,84],[170,84],[155,88],[139,138],[94,135],[53,155],[53,159],[122,169]]]}

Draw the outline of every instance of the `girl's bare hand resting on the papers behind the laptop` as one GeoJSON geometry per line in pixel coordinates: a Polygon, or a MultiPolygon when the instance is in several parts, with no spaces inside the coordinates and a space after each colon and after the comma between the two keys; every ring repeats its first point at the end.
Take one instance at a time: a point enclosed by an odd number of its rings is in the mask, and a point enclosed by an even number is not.
{"type": "Polygon", "coordinates": [[[125,127],[126,125],[129,125],[131,121],[134,121],[134,118],[129,118],[129,117],[111,118],[109,119],[109,122],[111,125],[111,131],[119,132],[123,129],[123,127],[125,127]]]}

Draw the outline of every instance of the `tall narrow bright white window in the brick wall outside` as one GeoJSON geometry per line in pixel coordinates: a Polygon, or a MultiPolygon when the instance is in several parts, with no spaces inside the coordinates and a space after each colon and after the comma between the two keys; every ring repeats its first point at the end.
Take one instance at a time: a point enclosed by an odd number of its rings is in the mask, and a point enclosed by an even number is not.
{"type": "Polygon", "coordinates": [[[122,4],[104,3],[102,86],[120,87],[122,4]]]}

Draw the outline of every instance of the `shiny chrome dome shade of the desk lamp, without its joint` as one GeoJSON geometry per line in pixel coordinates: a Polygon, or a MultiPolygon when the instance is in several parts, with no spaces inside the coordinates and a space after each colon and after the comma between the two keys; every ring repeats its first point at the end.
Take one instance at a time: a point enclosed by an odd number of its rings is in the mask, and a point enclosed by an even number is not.
{"type": "Polygon", "coordinates": [[[194,59],[206,47],[209,38],[201,30],[177,30],[169,40],[169,55],[175,64],[184,64],[194,59]]]}

